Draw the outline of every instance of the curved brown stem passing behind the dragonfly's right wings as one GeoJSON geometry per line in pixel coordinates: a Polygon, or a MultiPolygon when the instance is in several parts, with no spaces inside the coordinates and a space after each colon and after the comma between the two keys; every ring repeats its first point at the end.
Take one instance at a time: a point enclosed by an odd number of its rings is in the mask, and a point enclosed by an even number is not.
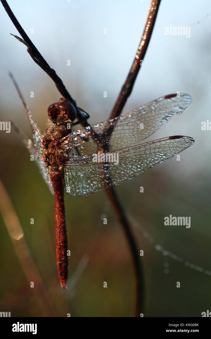
{"type": "MultiPolygon", "coordinates": [[[[161,3],[161,0],[152,0],[149,6],[149,12],[147,16],[146,25],[144,28],[144,32],[141,38],[141,42],[138,47],[138,51],[135,55],[133,64],[130,68],[129,74],[122,86],[122,89],[120,91],[120,94],[113,106],[113,109],[110,113],[109,118],[113,119],[115,117],[118,117],[123,108],[124,105],[129,97],[129,95],[132,92],[133,84],[135,82],[135,79],[138,75],[139,69],[141,67],[141,64],[143,62],[145,53],[147,51],[147,47],[149,45],[149,41],[152,35],[153,27],[155,24],[155,19],[157,16],[157,12],[159,9],[159,5],[161,3]]],[[[112,133],[112,129],[110,132],[112,133]]],[[[124,213],[124,210],[122,209],[121,203],[117,197],[117,194],[113,187],[108,188],[106,190],[107,195],[111,201],[111,204],[113,206],[113,209],[117,215],[117,218],[119,219],[123,230],[126,235],[126,239],[128,241],[128,245],[130,247],[130,252],[132,255],[133,260],[133,266],[135,270],[135,277],[136,277],[136,304],[135,304],[135,317],[138,317],[140,313],[143,313],[144,308],[144,292],[145,292],[145,281],[144,281],[144,272],[141,265],[139,250],[135,241],[135,238],[133,236],[130,223],[124,213]]]]}

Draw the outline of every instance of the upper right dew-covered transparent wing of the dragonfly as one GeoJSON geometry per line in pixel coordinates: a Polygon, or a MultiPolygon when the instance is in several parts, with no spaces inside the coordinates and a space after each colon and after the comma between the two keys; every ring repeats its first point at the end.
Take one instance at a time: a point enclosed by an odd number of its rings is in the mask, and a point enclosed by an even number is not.
{"type": "Polygon", "coordinates": [[[115,152],[149,137],[174,114],[181,114],[191,101],[191,96],[183,93],[180,97],[161,97],[117,118],[72,132],[62,147],[77,146],[81,155],[96,153],[105,146],[107,151],[115,152]]]}

